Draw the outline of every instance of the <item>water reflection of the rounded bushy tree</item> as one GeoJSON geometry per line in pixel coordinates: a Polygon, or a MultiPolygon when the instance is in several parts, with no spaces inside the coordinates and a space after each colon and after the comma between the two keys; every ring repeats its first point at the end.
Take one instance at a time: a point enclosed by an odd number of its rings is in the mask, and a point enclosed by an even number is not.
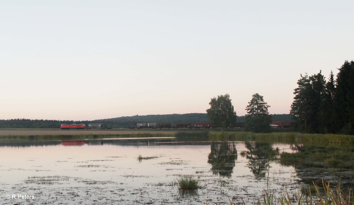
{"type": "Polygon", "coordinates": [[[212,172],[216,175],[230,177],[237,160],[235,144],[230,142],[213,142],[210,148],[211,152],[208,155],[208,163],[212,165],[212,172]]]}

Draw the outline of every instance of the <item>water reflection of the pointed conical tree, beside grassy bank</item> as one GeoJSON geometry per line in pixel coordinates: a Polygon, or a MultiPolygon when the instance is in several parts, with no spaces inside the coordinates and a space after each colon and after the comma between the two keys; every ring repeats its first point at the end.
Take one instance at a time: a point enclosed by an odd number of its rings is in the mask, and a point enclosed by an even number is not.
{"type": "Polygon", "coordinates": [[[269,162],[277,158],[279,149],[273,149],[270,143],[246,142],[248,151],[242,152],[249,160],[247,166],[251,169],[256,178],[264,178],[268,172],[269,162]]]}

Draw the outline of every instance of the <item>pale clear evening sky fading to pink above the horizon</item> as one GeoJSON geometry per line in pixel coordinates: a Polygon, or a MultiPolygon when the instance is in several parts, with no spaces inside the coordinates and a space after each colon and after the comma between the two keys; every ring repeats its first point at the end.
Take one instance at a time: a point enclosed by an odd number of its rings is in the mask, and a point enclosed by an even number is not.
{"type": "Polygon", "coordinates": [[[354,59],[354,1],[0,1],[0,119],[205,113],[354,59]]]}

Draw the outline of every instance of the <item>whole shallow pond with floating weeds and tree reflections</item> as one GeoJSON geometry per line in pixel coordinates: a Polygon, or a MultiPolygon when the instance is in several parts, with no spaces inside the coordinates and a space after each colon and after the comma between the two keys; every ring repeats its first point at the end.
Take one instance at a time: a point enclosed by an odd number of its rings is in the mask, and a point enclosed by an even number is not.
{"type": "Polygon", "coordinates": [[[4,139],[2,204],[255,204],[267,189],[295,198],[297,190],[322,178],[353,184],[352,167],[333,163],[331,155],[350,161],[351,146],[319,149],[293,137],[286,143],[205,132],[140,137],[4,139]],[[186,178],[198,186],[181,189],[178,183],[186,178]]]}

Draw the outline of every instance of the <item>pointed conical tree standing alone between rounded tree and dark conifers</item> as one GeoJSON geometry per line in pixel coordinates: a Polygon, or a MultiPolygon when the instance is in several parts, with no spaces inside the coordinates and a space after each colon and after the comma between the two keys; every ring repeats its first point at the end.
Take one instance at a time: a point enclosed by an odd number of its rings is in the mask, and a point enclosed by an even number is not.
{"type": "Polygon", "coordinates": [[[268,112],[269,107],[264,102],[263,96],[258,93],[252,95],[252,99],[246,107],[246,131],[270,132],[269,124],[272,123],[272,118],[268,112]]]}

